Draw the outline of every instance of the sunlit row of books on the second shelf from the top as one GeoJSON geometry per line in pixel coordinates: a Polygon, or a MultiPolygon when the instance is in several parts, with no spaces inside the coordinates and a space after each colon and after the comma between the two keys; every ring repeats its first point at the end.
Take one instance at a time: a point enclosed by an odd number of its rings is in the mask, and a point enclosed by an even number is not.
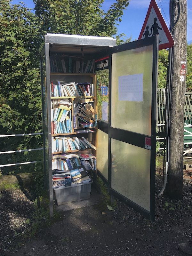
{"type": "Polygon", "coordinates": [[[51,97],[79,97],[94,96],[94,84],[75,82],[64,83],[58,81],[58,85],[51,81],[51,97]]]}

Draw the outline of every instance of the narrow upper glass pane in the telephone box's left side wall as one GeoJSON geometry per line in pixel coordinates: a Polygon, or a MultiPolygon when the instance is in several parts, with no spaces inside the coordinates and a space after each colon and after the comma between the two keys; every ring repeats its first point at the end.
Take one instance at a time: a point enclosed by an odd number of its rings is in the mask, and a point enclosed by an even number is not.
{"type": "Polygon", "coordinates": [[[46,85],[46,66],[45,66],[45,55],[41,60],[41,82],[43,85],[43,121],[47,125],[47,85],[46,85]]]}

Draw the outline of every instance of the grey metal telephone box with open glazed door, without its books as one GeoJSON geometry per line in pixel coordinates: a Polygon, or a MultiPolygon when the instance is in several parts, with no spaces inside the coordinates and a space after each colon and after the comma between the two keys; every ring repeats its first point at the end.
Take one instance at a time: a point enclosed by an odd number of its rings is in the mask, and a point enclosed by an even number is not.
{"type": "MultiPolygon", "coordinates": [[[[98,125],[92,135],[97,148],[94,174],[99,174],[107,184],[112,198],[154,220],[158,36],[116,46],[116,40],[110,37],[47,34],[40,48],[40,61],[44,180],[49,191],[50,216],[53,214],[51,102],[55,98],[51,95],[51,83],[86,81],[94,85],[94,108],[98,112],[98,125]],[[88,73],[81,68],[72,72],[60,69],[60,56],[74,58],[76,63],[94,61],[94,68],[88,73]],[[55,69],[51,60],[58,60],[55,69]],[[102,70],[108,73],[103,81],[102,70]]],[[[75,129],[68,136],[74,134],[75,129]]]]}

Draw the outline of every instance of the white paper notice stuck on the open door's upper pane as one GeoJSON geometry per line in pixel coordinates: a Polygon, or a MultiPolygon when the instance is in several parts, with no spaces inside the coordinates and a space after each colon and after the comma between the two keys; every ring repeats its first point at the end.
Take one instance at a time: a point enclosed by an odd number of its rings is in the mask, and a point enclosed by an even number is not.
{"type": "Polygon", "coordinates": [[[143,74],[119,76],[119,100],[143,101],[143,74]]]}

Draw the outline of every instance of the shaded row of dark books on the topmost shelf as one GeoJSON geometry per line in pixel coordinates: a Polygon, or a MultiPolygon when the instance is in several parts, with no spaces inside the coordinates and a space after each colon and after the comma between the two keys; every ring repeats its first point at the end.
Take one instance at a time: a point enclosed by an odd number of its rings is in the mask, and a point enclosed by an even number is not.
{"type": "Polygon", "coordinates": [[[52,73],[94,73],[95,60],[85,60],[70,56],[50,56],[50,72],[52,73]]]}

